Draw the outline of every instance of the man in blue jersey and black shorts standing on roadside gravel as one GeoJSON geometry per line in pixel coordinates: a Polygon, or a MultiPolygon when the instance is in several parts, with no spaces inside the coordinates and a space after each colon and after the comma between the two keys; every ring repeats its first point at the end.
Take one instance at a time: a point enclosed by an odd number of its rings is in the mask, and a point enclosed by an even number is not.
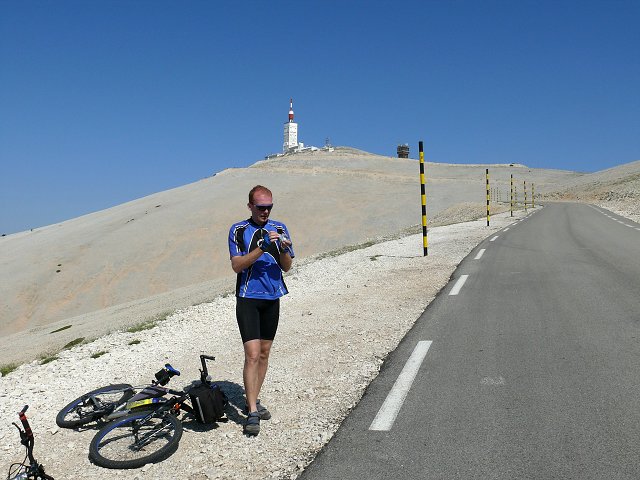
{"type": "Polygon", "coordinates": [[[278,328],[280,297],[288,293],[282,272],[289,271],[295,255],[285,224],[269,219],[271,191],[256,185],[249,192],[247,207],[251,218],[234,223],[229,230],[229,255],[238,275],[236,319],[244,345],[244,433],[257,435],[260,420],[271,418],[258,395],[278,328]]]}

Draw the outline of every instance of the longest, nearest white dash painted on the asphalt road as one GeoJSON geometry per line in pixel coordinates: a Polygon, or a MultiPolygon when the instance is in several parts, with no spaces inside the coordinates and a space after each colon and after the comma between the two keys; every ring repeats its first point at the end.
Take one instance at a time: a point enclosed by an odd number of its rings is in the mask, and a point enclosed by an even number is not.
{"type": "Polygon", "coordinates": [[[413,380],[416,378],[416,374],[418,373],[420,365],[422,365],[422,361],[427,355],[427,351],[429,351],[430,346],[431,340],[422,340],[418,342],[416,348],[413,349],[413,353],[409,357],[409,360],[404,364],[404,368],[396,379],[396,383],[393,384],[387,398],[380,407],[380,410],[378,410],[376,418],[371,422],[369,430],[391,430],[393,422],[396,421],[398,412],[400,412],[400,408],[402,408],[404,399],[407,397],[409,389],[411,389],[413,380]]]}

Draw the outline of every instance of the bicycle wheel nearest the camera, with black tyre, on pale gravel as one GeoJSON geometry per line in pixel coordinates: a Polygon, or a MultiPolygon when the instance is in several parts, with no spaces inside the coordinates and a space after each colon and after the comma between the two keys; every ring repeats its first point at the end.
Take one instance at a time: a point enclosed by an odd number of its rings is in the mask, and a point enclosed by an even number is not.
{"type": "Polygon", "coordinates": [[[167,411],[139,412],[102,428],[89,446],[89,458],[105,468],[139,468],[169,457],[178,449],[182,422],[167,411]]]}

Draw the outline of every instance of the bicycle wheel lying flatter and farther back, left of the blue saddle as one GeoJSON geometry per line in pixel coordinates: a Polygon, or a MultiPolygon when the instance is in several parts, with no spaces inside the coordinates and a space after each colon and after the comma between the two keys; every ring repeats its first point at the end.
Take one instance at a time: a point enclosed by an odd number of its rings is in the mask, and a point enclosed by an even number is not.
{"type": "Polygon", "coordinates": [[[98,420],[131,398],[132,389],[131,385],[121,383],[85,393],[58,412],[56,424],[60,428],[76,428],[98,420]]]}

